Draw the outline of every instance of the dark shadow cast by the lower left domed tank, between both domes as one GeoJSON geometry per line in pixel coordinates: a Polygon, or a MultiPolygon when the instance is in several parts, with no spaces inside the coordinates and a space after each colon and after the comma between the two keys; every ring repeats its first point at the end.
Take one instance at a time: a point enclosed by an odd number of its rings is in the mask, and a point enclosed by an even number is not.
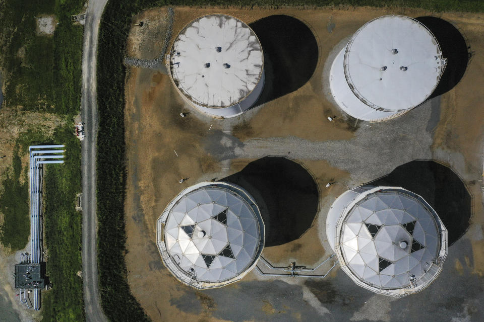
{"type": "Polygon", "coordinates": [[[220,181],[244,187],[255,198],[265,224],[266,247],[299,238],[318,212],[316,182],[305,168],[285,157],[263,157],[220,181]]]}

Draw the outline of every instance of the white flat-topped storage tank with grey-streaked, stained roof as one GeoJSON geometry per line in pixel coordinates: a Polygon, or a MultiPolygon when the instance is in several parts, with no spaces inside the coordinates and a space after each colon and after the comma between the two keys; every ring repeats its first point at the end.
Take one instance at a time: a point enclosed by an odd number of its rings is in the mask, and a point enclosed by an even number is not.
{"type": "Polygon", "coordinates": [[[228,15],[199,17],[181,29],[167,69],[178,93],[214,117],[242,114],[264,87],[261,43],[247,24],[228,15]]]}

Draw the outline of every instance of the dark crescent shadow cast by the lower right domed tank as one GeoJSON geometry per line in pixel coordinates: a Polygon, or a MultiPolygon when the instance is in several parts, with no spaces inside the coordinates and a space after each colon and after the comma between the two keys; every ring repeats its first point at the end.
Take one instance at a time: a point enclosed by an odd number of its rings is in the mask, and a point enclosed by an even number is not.
{"type": "Polygon", "coordinates": [[[447,227],[449,246],[469,227],[472,195],[452,169],[434,160],[413,160],[368,185],[402,187],[422,196],[447,227]]]}

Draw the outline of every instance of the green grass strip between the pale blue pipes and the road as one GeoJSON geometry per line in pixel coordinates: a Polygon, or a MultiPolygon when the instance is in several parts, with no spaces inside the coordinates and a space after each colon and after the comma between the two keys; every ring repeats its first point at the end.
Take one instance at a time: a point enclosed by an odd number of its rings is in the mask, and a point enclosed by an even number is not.
{"type": "Polygon", "coordinates": [[[80,142],[72,135],[73,124],[56,129],[53,142],[66,145],[64,165],[45,169],[45,233],[47,276],[53,283],[44,293],[42,321],[84,321],[81,263],[82,213],[75,210],[81,191],[80,142]]]}

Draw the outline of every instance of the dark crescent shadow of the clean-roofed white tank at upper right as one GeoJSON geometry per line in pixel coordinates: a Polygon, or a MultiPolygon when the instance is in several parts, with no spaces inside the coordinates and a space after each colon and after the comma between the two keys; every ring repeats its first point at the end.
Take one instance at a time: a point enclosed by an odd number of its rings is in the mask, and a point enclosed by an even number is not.
{"type": "Polygon", "coordinates": [[[437,17],[415,18],[432,31],[439,41],[447,66],[437,88],[430,98],[442,95],[454,88],[464,76],[471,58],[470,45],[464,35],[448,21],[437,17]]]}

